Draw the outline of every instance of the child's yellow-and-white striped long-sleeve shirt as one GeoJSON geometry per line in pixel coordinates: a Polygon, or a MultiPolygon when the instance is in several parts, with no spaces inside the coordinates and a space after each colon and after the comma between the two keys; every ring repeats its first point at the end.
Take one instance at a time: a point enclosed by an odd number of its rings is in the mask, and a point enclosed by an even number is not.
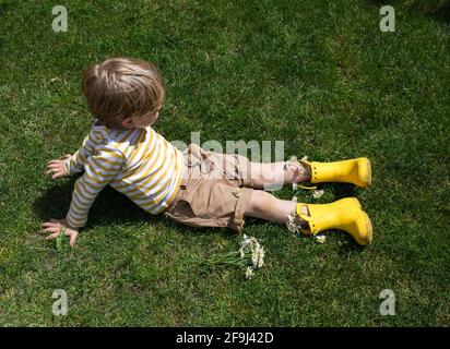
{"type": "Polygon", "coordinates": [[[174,200],[182,178],[182,154],[152,128],[127,131],[94,124],[83,146],[64,163],[69,173],[84,170],[66,217],[83,227],[97,194],[107,184],[151,214],[174,200]]]}

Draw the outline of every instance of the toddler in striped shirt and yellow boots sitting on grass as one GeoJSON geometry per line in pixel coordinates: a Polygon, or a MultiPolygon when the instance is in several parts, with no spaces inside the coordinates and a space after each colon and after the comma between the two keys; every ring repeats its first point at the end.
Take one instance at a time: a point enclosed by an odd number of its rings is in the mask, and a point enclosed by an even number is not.
{"type": "Polygon", "coordinates": [[[359,244],[370,243],[371,222],[355,197],[304,204],[261,190],[333,181],[366,188],[371,181],[369,159],[263,164],[196,144],[181,152],[152,129],[166,91],[156,67],[138,59],[114,58],[92,65],[83,74],[82,91],[96,121],[82,147],[64,159],[50,160],[46,173],[52,179],[84,173],[75,182],[66,218],[43,224],[51,233],[47,239],[63,230],[73,246],[95,197],[109,184],[150,214],[164,214],[179,224],[240,231],[245,216],[250,216],[308,234],[345,230],[359,244]]]}

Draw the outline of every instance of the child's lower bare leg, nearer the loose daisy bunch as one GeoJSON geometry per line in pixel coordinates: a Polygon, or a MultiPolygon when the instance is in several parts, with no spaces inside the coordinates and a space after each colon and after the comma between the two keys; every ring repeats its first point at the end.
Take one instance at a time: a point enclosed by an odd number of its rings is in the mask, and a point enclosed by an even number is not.
{"type": "MultiPolygon", "coordinates": [[[[288,200],[280,200],[262,190],[254,190],[251,194],[249,205],[244,213],[245,216],[261,218],[274,222],[287,224],[288,215],[295,212],[297,203],[288,200]]],[[[301,207],[304,214],[308,215],[308,208],[301,207]]],[[[305,226],[305,221],[299,219],[297,222],[305,226]]]]}

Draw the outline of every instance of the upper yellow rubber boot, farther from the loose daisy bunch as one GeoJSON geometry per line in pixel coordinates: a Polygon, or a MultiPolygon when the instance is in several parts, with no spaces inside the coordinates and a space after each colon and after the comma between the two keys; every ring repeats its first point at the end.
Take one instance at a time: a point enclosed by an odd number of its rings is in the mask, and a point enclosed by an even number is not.
{"type": "Polygon", "coordinates": [[[367,157],[335,163],[305,163],[311,168],[311,183],[344,182],[363,188],[371,183],[371,166],[367,157]]]}

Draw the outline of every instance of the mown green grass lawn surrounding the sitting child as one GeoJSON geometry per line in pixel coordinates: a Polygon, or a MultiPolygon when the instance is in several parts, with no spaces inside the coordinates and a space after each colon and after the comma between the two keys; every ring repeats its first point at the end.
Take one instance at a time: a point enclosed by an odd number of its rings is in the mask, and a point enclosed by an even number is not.
{"type": "Polygon", "coordinates": [[[411,2],[394,3],[396,31],[381,33],[378,1],[60,1],[69,31],[54,33],[54,1],[0,1],[0,325],[448,326],[449,24],[411,2]],[[205,273],[198,262],[238,236],[150,216],[110,189],[75,249],[45,241],[40,224],[64,217],[74,183],[51,181],[45,164],[90,130],[82,70],[116,56],[159,67],[168,140],[200,131],[284,140],[286,158],[368,156],[369,189],[298,196],[356,195],[374,243],[334,231],[317,244],[248,219],[264,267],[251,280],[205,273]],[[51,313],[55,289],[67,316],[51,313]],[[395,316],[379,313],[383,289],[395,316]]]}

